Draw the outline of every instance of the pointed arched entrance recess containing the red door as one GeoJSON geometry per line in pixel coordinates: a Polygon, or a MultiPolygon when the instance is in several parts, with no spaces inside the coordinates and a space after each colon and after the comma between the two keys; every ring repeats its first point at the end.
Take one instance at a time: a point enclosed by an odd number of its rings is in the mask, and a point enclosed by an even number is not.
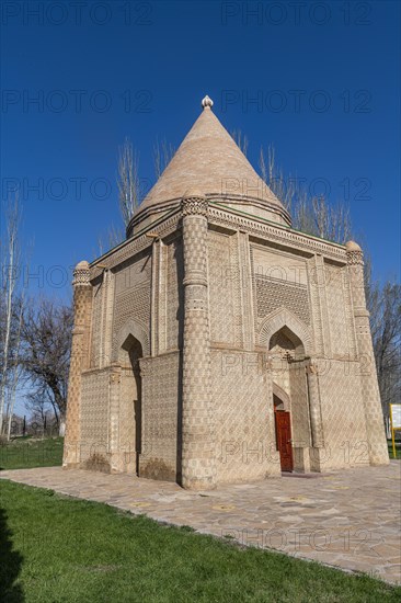
{"type": "Polygon", "coordinates": [[[268,360],[282,471],[308,471],[311,443],[306,355],[301,340],[287,326],[271,337],[268,360]]]}

